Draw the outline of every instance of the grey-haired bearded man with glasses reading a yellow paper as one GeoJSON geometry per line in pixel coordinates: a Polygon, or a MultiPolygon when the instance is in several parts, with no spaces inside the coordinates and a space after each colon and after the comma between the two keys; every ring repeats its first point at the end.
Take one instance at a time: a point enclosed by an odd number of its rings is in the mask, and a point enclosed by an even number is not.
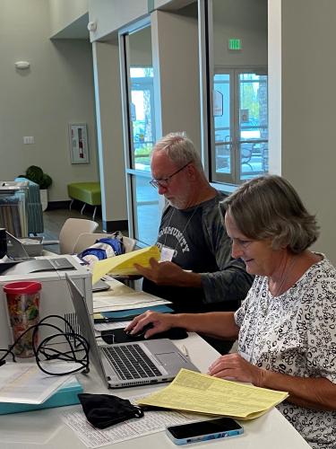
{"type": "MultiPolygon", "coordinates": [[[[180,133],[162,137],[151,154],[151,185],[167,200],[157,245],[161,261],[135,265],[142,289],[172,301],[176,312],[235,311],[252,285],[220,215],[223,193],[211,187],[193,142],[180,133]]],[[[212,342],[211,342],[212,344],[212,342]]],[[[226,352],[231,344],[214,344],[226,352]]]]}

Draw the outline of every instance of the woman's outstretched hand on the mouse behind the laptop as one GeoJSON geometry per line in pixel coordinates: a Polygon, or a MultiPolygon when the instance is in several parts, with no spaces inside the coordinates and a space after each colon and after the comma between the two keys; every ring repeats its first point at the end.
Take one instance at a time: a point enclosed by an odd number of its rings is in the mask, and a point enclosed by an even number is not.
{"type": "Polygon", "coordinates": [[[146,330],[144,338],[148,339],[158,332],[163,332],[174,327],[175,316],[170,313],[157,313],[147,311],[138,315],[125,328],[125,332],[132,335],[141,332],[144,326],[150,325],[151,328],[146,330]]]}

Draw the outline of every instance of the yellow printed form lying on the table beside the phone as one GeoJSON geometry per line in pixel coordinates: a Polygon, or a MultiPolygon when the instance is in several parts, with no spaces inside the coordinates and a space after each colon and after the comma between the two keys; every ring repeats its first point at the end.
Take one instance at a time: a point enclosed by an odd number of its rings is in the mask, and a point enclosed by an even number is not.
{"type": "Polygon", "coordinates": [[[165,409],[232,418],[257,418],[288,397],[278,392],[181,369],[168,387],[137,401],[165,409]]]}

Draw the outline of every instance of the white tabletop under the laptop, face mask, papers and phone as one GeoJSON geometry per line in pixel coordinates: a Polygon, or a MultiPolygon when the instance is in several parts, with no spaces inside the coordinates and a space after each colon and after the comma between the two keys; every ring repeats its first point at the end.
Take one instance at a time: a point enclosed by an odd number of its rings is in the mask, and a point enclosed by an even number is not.
{"type": "MultiPolygon", "coordinates": [[[[116,280],[111,281],[111,286],[113,286],[113,290],[110,291],[111,296],[127,295],[131,291],[134,292],[133,289],[124,286],[116,280]]],[[[104,292],[104,295],[108,295],[108,292],[104,292]]],[[[185,346],[188,349],[192,362],[198,366],[202,373],[206,373],[208,366],[219,356],[214,348],[211,348],[208,343],[195,333],[190,333],[188,339],[176,340],[175,344],[179,348],[185,346]]],[[[99,375],[94,371],[93,366],[91,366],[90,374],[87,376],[78,374],[77,378],[82,383],[84,392],[108,392],[123,398],[147,394],[165,386],[165,383],[162,383],[161,386],[147,385],[108,390],[100,380],[99,375]]],[[[30,449],[85,448],[86,446],[82,444],[73,430],[67,427],[60,418],[62,413],[78,409],[82,409],[82,406],[75,405],[0,416],[0,449],[23,449],[23,447],[30,449]]],[[[185,449],[188,447],[201,449],[310,448],[310,445],[297,433],[286,418],[283,418],[277,409],[271,409],[266,415],[253,421],[242,421],[241,424],[245,429],[243,436],[229,438],[228,440],[220,438],[219,440],[185,445],[185,449]]],[[[103,447],[113,449],[174,449],[178,446],[168,439],[165,432],[159,432],[150,436],[142,436],[116,445],[103,447]]]]}

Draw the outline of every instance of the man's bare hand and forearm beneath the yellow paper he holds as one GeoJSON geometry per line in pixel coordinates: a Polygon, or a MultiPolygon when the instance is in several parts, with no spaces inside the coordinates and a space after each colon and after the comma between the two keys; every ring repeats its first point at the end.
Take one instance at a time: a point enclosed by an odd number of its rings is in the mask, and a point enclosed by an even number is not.
{"type": "Polygon", "coordinates": [[[158,262],[151,258],[151,267],[142,267],[134,263],[134,268],[158,286],[201,286],[201,276],[198,273],[186,272],[173,262],[158,262]]]}

